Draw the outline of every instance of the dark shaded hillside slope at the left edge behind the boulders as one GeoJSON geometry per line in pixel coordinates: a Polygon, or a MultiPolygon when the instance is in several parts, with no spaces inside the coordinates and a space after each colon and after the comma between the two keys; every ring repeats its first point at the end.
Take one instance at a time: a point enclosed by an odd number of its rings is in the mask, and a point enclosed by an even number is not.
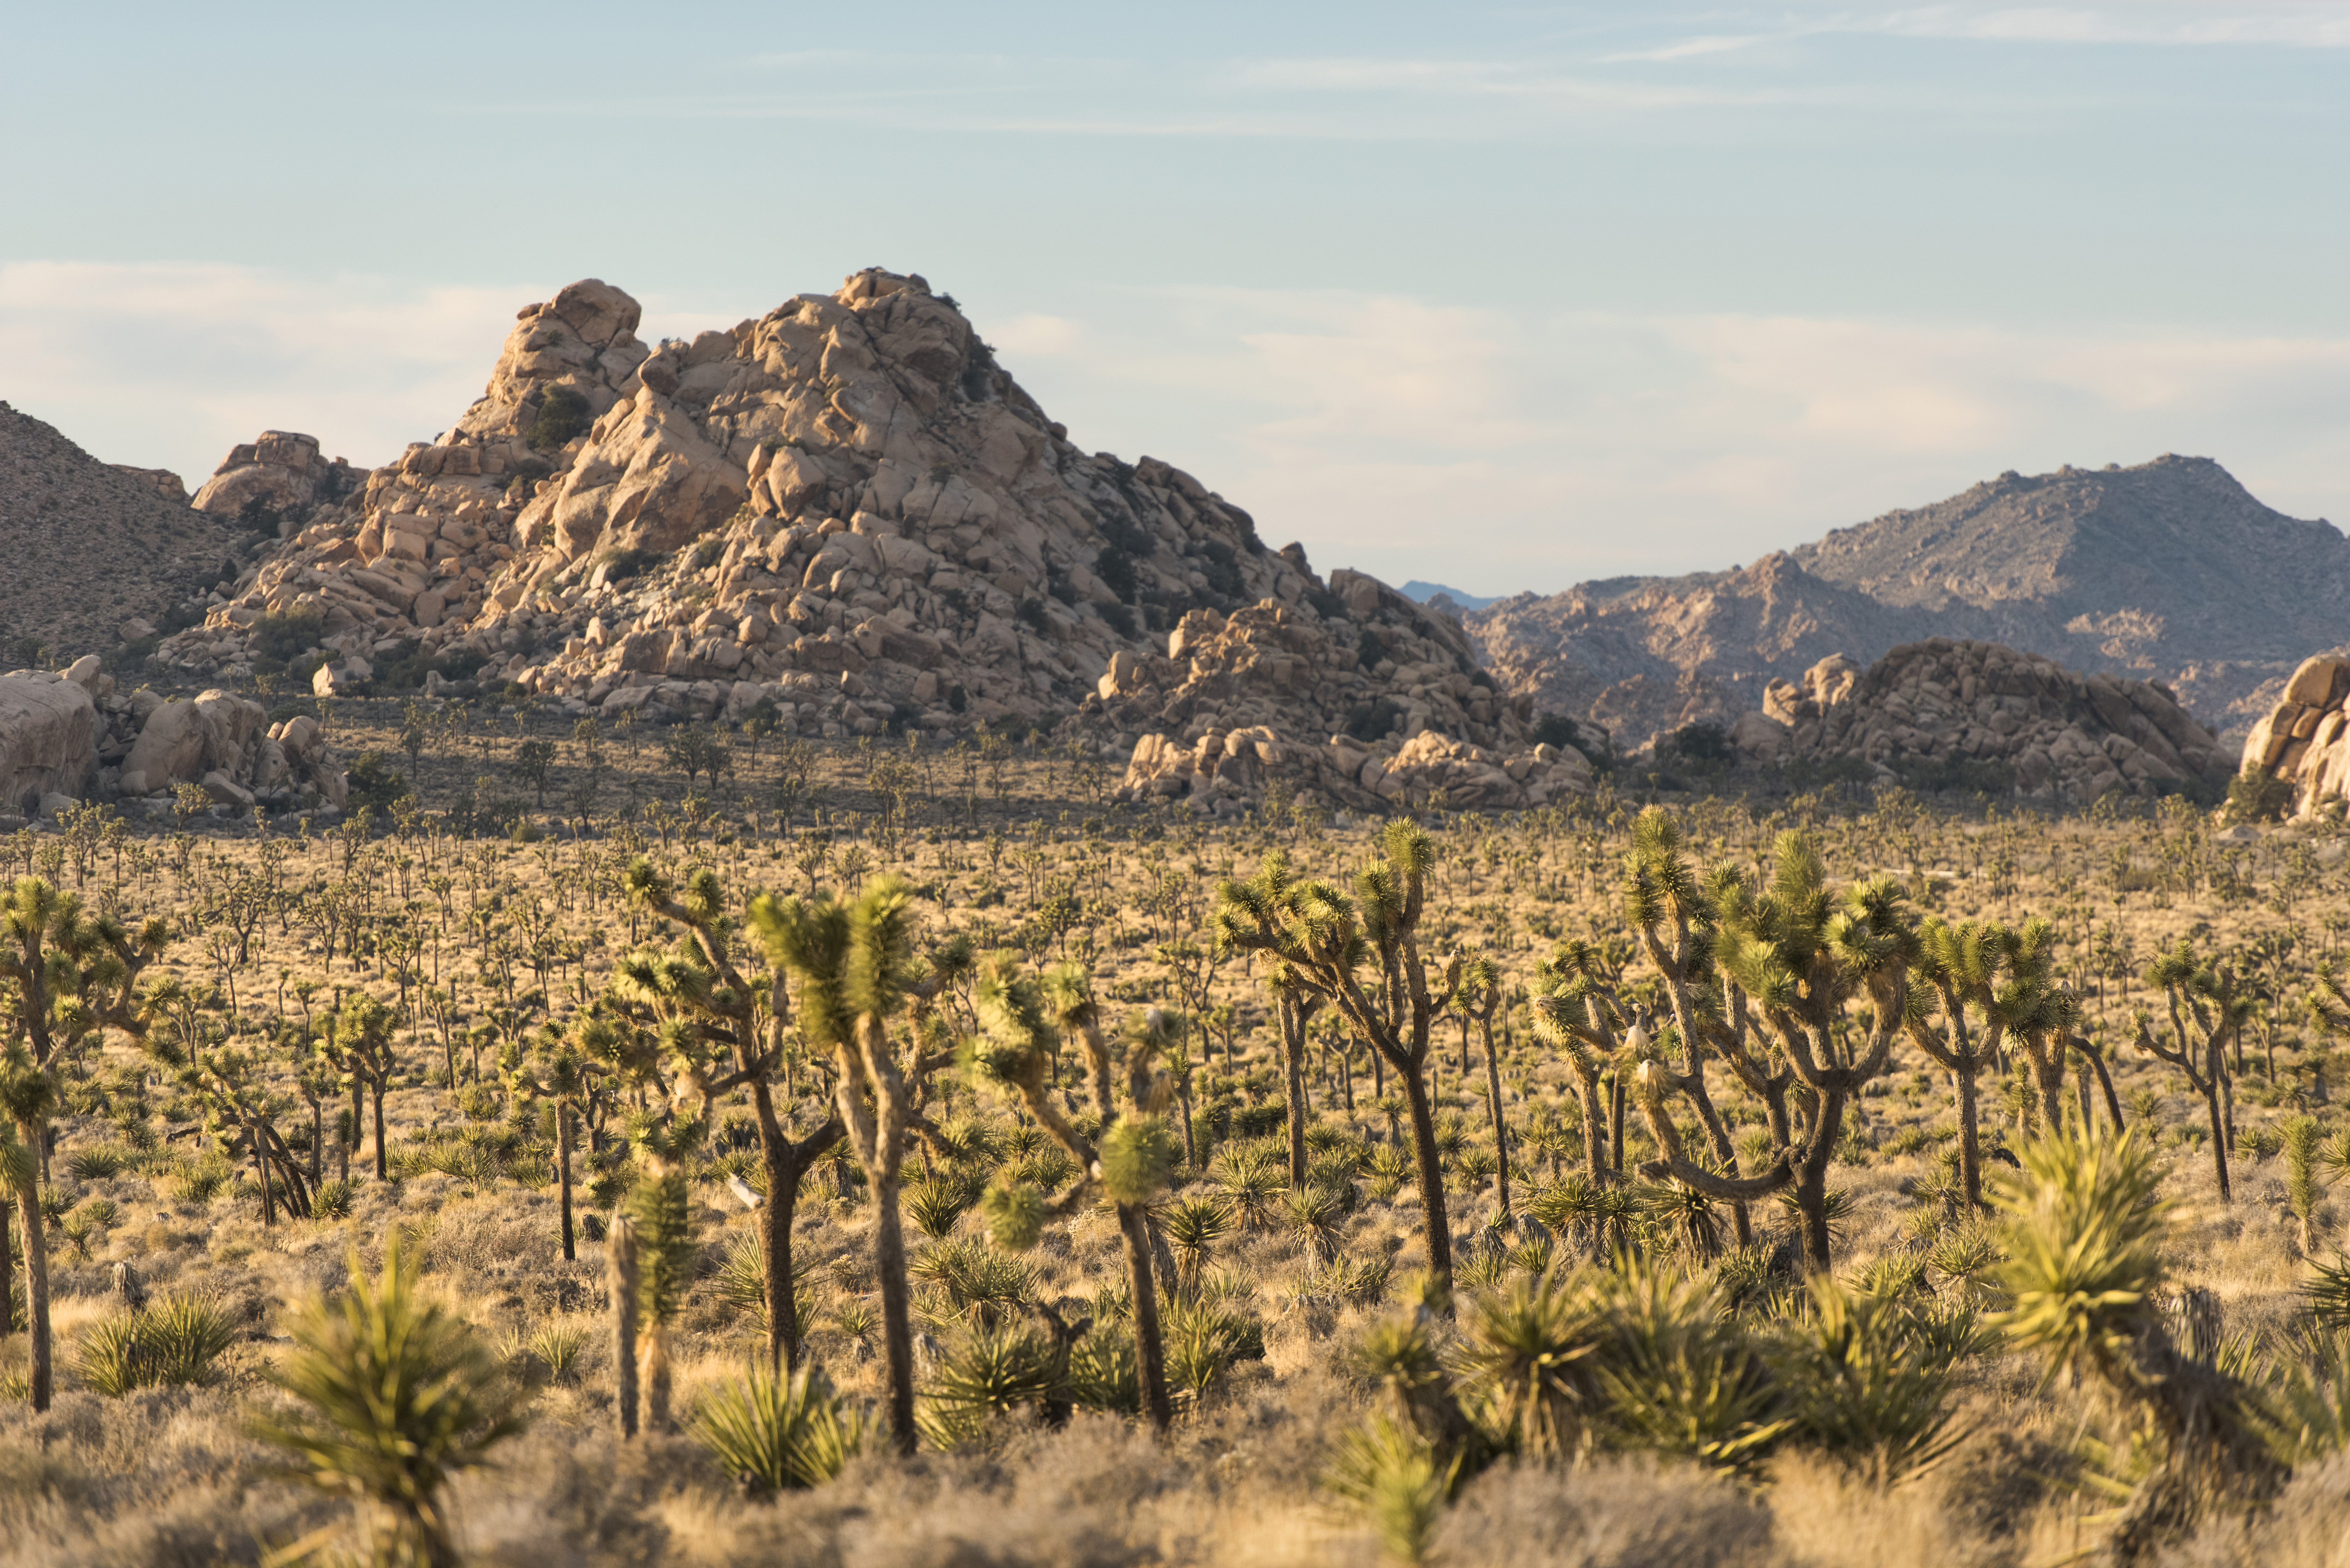
{"type": "Polygon", "coordinates": [[[188,510],[179,475],[115,468],[0,402],[0,668],[150,637],[254,543],[188,510]]]}

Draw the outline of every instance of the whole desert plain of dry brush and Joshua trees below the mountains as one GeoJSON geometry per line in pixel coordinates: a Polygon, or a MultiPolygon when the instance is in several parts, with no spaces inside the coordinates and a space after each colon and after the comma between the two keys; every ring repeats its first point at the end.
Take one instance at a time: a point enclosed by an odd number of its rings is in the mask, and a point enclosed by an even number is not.
{"type": "Polygon", "coordinates": [[[2324,825],[1198,820],[1043,738],[745,726],[689,780],[439,712],[331,715],[407,762],[367,818],[0,839],[16,1559],[2322,1561],[2341,1521],[2324,825]],[[352,1514],[254,1422],[360,1476],[397,1422],[336,1378],[395,1319],[475,1403],[352,1514]]]}

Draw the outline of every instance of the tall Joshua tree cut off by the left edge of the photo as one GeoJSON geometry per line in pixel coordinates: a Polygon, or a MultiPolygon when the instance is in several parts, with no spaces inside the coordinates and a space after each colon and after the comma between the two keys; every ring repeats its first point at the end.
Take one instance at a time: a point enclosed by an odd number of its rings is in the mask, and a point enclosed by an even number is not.
{"type": "MultiPolygon", "coordinates": [[[[14,1121],[35,1171],[59,1107],[56,1070],[103,1030],[146,1037],[146,1009],[136,1001],[139,971],[155,961],[167,940],[162,919],[146,922],[132,936],[108,914],[87,914],[80,898],[40,877],[21,877],[0,898],[0,1027],[7,1030],[0,1046],[0,1112],[14,1121]]],[[[47,1410],[54,1389],[49,1244],[38,1182],[12,1185],[24,1229],[31,1394],[33,1408],[47,1410]]]]}

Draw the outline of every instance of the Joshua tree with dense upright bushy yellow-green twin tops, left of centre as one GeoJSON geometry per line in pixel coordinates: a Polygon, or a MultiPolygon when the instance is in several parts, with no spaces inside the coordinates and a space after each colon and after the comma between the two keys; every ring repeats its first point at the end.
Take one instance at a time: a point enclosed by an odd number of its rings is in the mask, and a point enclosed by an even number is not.
{"type": "MultiPolygon", "coordinates": [[[[844,898],[757,898],[752,926],[768,959],[799,985],[799,1032],[832,1056],[834,1095],[848,1150],[865,1168],[874,1206],[874,1274],[881,1284],[881,1345],[888,1361],[891,1436],[914,1450],[914,1328],[905,1288],[905,1218],[898,1213],[905,1145],[921,1126],[926,1079],[954,1063],[928,1011],[945,971],[916,964],[912,891],[898,877],[844,898]],[[912,1039],[891,1037],[893,1018],[914,1004],[912,1039]]],[[[961,961],[961,954],[942,954],[961,961]]]]}

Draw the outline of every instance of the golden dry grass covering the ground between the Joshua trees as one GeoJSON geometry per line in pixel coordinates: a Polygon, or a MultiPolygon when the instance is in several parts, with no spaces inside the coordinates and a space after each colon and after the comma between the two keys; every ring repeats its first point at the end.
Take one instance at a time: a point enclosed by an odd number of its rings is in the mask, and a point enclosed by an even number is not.
{"type": "MultiPolygon", "coordinates": [[[[343,705],[338,743],[348,752],[397,752],[397,708],[343,705]]],[[[566,726],[512,724],[475,717],[475,741],[428,755],[416,769],[423,804],[432,811],[477,797],[477,778],[498,780],[517,733],[559,741],[550,802],[585,776],[585,748],[566,726]],[[479,736],[494,736],[484,748],[479,736]]],[[[606,733],[595,827],[571,837],[550,825],[538,844],[451,837],[418,827],[376,837],[364,846],[336,835],[280,839],[266,849],[249,825],[200,823],[174,849],[169,835],[136,839],[120,882],[110,856],[87,872],[85,896],[129,912],[169,912],[186,936],[172,966],[190,983],[233,985],[235,1013],[221,1023],[237,1039],[258,1044],[282,1013],[301,1018],[296,987],[364,987],[397,1004],[404,994],[395,964],[381,952],[324,952],[322,933],[298,914],[261,922],[249,961],[233,969],[204,952],[209,931],[200,912],[240,872],[270,870],[294,898],[350,886],[371,898],[362,926],[369,936],[404,922],[423,938],[416,980],[449,985],[458,999],[458,1086],[472,1088],[472,1051],[463,1030],[489,1018],[508,990],[538,985],[526,938],[543,931],[557,943],[548,969],[550,1011],[566,1016],[602,985],[613,959],[651,936],[639,914],[616,896],[613,879],[632,853],[649,853],[672,870],[712,865],[733,896],[757,889],[804,889],[797,856],[808,846],[808,809],[794,830],[773,816],[773,743],[752,764],[740,738],[738,769],[707,804],[700,827],[663,825],[642,811],[634,820],[604,816],[625,802],[682,802],[677,780],[658,766],[658,736],[627,741],[606,733]],[[230,832],[235,827],[235,832],[230,832]],[[275,856],[275,865],[270,865],[275,856]],[[141,860],[146,865],[141,867],[141,860]],[[179,863],[179,870],[174,870],[179,863]],[[444,891],[432,879],[446,877],[444,891]],[[306,893],[306,889],[310,893],[306,893]],[[571,945],[571,947],[562,947],[571,945]]],[[[865,875],[900,870],[926,889],[928,931],[978,931],[1001,943],[1046,903],[1055,879],[1079,905],[1076,924],[1060,938],[1029,936],[1039,957],[1088,954],[1100,985],[1126,1006],[1177,1004],[1156,945],[1168,938],[1203,940],[1220,877],[1248,872],[1274,844],[1288,846],[1311,872],[1342,872],[1365,858],[1370,823],[1337,823],[1300,813],[1276,823],[1198,823],[1140,809],[1109,809],[1097,785],[1097,762],[1029,752],[971,757],[914,755],[912,820],[881,835],[881,797],[872,788],[877,757],[900,755],[837,748],[815,757],[818,802],[834,856],[855,849],[865,875]],[[994,788],[1001,764],[1001,792],[994,788]],[[975,825],[973,825],[975,823],[975,825]],[[1001,835],[1001,839],[989,839],[1001,835]]],[[[409,771],[407,757],[395,766],[409,771]]],[[[1114,783],[1114,766],[1109,783],[1114,783]]],[[[524,792],[512,780],[491,795],[524,792]]],[[[2326,1041],[2291,1009],[2310,964],[2338,950],[2345,875],[2341,842],[2270,832],[2251,844],[2218,844],[2209,825],[2169,818],[1998,818],[1847,809],[1824,799],[1678,802],[1699,860],[1732,858],[1755,865],[1770,835],[1807,825],[1824,844],[1838,879],[1889,870],[1922,903],[1960,919],[2044,912],[2066,931],[2063,969],[2084,997],[2094,1023],[2117,1044],[2129,1009],[2146,1004],[2143,987],[2101,978],[2099,931],[2110,926],[2134,964],[2164,943],[2195,931],[2204,945],[2249,952],[2263,933],[2298,940],[2277,973],[2275,1058],[2270,1086],[2263,1030],[2247,1037],[2247,1072],[2237,1081],[2244,1126],[2272,1124],[2291,1103],[2334,1117],[2312,1098],[2315,1074],[2331,1060],[2326,1041]]],[[[536,813],[533,813],[536,816],[536,813]]],[[[1617,860],[1626,846],[1631,809],[1596,809],[1525,820],[1445,818],[1436,823],[1441,865],[1424,940],[1431,950],[1490,952],[1511,985],[1525,985],[1532,964],[1556,936],[1619,936],[1614,912],[1617,860]]],[[[54,839],[45,839],[54,844],[54,839]]],[[[21,849],[40,870],[40,844],[21,849]]],[[[73,865],[52,865],[75,884],[73,865]]],[[[214,926],[216,929],[216,926],[214,926]]],[[[543,954],[545,957],[545,954],[543,954]]],[[[407,987],[414,999],[416,980],[407,987]]],[[[1278,1105],[1271,1077],[1264,992],[1241,964],[1224,964],[1208,1004],[1234,1009],[1224,1110],[1246,1114],[1278,1105]]],[[[1464,1147],[1490,1150],[1483,1060],[1462,1072],[1462,1048],[1450,1025],[1441,1030],[1436,1072],[1438,1112],[1457,1114],[1464,1147]]],[[[1567,1072],[1513,1027],[1502,1058],[1504,1112],[1523,1128],[1535,1107],[1570,1100],[1567,1072]]],[[[1198,1060],[1203,1041],[1191,1037],[1198,1060]]],[[[1210,1079],[1227,1074],[1222,1034],[1198,1070],[1206,1103],[1210,1079]]],[[[468,1124],[451,1100],[446,1058],[430,1020],[411,1013],[400,1037],[402,1074],[388,1098],[390,1145],[397,1152],[432,1131],[468,1124]]],[[[2200,1126],[2200,1103],[2160,1063],[2115,1053],[2124,1105],[2155,1095],[2164,1138],[2200,1126]]],[[[496,1041],[482,1051],[484,1079],[496,1086],[496,1041]]],[[[122,1074],[139,1063],[110,1044],[80,1063],[78,1088],[113,1086],[129,1103],[122,1074]]],[[[1358,1056],[1340,1077],[1330,1056],[1314,1063],[1311,1098],[1330,1128],[1382,1145],[1389,1124],[1375,1107],[1370,1072],[1358,1056]],[[1349,1110],[1351,1095],[1351,1110],[1349,1110]]],[[[1908,1244],[1911,1187],[1932,1173],[1953,1119],[1948,1084],[1922,1070],[1915,1053],[1899,1053],[1896,1070],[1859,1103],[1864,1128],[1852,1164],[1831,1178],[1849,1197],[1849,1220],[1838,1262],[1861,1269],[1908,1244]]],[[[820,1086],[801,1070],[790,1112],[801,1128],[822,1114],[820,1086]]],[[[162,1081],[150,1081],[146,1124],[164,1133],[162,1150],[183,1164],[193,1147],[193,1110],[162,1081]]],[[[1727,1105],[1739,1098],[1716,1088],[1727,1105]]],[[[329,1105],[329,1112],[334,1105],[329,1105]]],[[[717,1107],[719,1117],[733,1107],[717,1107]]],[[[1001,1105],[949,1086],[940,1117],[980,1117],[999,1128],[1001,1105]]],[[[1751,1110],[1734,1110],[1744,1133],[1758,1126],[1751,1110]]],[[[2134,1112],[2131,1112],[2134,1114],[2134,1112]]],[[[280,1354],[287,1309],[345,1279],[357,1251],[371,1267],[392,1225],[423,1244],[428,1276],[491,1342],[522,1342],[550,1324],[585,1331],[585,1347],[562,1380],[536,1396],[533,1432],[491,1472],[461,1483],[458,1519],[475,1561],[484,1563],[1370,1563],[1377,1544],[1351,1509],[1316,1486],[1328,1443],[1372,1403],[1372,1392],[1344,1373],[1349,1347],[1394,1312],[1386,1302],[1332,1307],[1300,1298],[1311,1265],[1302,1241],[1278,1227],[1234,1232],[1215,1248],[1213,1267],[1255,1286],[1248,1309],[1264,1324],[1264,1361],[1236,1366],[1166,1441],[1109,1415],[1079,1413],[1065,1429],[1020,1422],[989,1441],[954,1453],[924,1453],[912,1462],[862,1460],[839,1481],[780,1500],[745,1500],[700,1450],[684,1439],[649,1436],[620,1443],[613,1434],[609,1342],[604,1335],[604,1265],[597,1244],[578,1262],[557,1251],[555,1187],[533,1166],[491,1180],[479,1194],[446,1175],[371,1178],[371,1150],[352,1159],[357,1194],[348,1220],[296,1222],[280,1215],[263,1227],[249,1192],[223,1187],[212,1201],[174,1197],[172,1173],[122,1171],[75,1180],[66,1161],[87,1147],[120,1145],[122,1112],[87,1103],[61,1119],[54,1180],[75,1201],[103,1197],[120,1208],[118,1225],[96,1241],[87,1262],[54,1258],[54,1324],[61,1347],[61,1396],[47,1415],[31,1415],[16,1399],[0,1403],[0,1561],[7,1563],[174,1563],[258,1561],[324,1519],[331,1505],[270,1481],[261,1453],[240,1436],[240,1413],[268,1399],[261,1371],[280,1354]],[[113,1309],[108,1272],[129,1262],[148,1288],[219,1298],[249,1326],[214,1387],[167,1389],[103,1401],[75,1387],[70,1347],[113,1309]]],[[[1206,1112],[1203,1112],[1206,1117],[1206,1112]]],[[[1998,1088],[1986,1091],[1986,1124],[2005,1121],[1998,1088]]],[[[1638,1119],[1633,1119],[1638,1128],[1638,1119]]],[[[2334,1124],[2338,1126],[2338,1124],[2334,1124]]],[[[308,1110],[289,1107],[280,1128],[308,1128],[308,1110]]],[[[1516,1194],[1546,1180],[1546,1159],[1523,1143],[1516,1194]]],[[[1631,1161],[1645,1140],[1633,1140],[1631,1161]]],[[[331,1175],[331,1157],[329,1157],[331,1175]]],[[[585,1182],[585,1173],[583,1173],[585,1182]]],[[[2181,1204],[2169,1262],[2181,1284],[2209,1286],[2225,1305],[2228,1326],[2282,1331],[2296,1319],[2298,1232],[2284,1204],[2282,1161],[2268,1157],[2237,1168],[2237,1201],[2221,1204],[2207,1152],[2178,1147],[2167,1180],[2181,1204]]],[[[1198,1173],[1184,1173],[1184,1194],[1213,1194],[1198,1173]],[[1196,1182],[1196,1185],[1194,1185],[1196,1182]]],[[[705,1260],[714,1267],[726,1244],[747,1232],[747,1215],[710,1173],[696,1187],[705,1260]]],[[[1497,1213],[1490,1182],[1452,1180],[1452,1225],[1473,1237],[1497,1213]]],[[[592,1201],[580,1199],[588,1213],[592,1201]]],[[[1758,1220],[1784,1239],[1777,1206],[1758,1220]]],[[[956,1237],[975,1234],[966,1215],[956,1237]]],[[[881,1396],[879,1359],[841,1331],[844,1312],[872,1305],[865,1258],[867,1215],[858,1194],[841,1197],[834,1173],[808,1178],[794,1234],[794,1255],[811,1267],[806,1286],[808,1345],[834,1382],[853,1399],[881,1396]]],[[[2338,1201],[2319,1215],[2331,1248],[2341,1239],[2338,1201]]],[[[921,1248],[916,1246],[916,1253],[921,1248]]],[[[1396,1281],[1424,1258],[1419,1208],[1405,1182],[1391,1199],[1363,1194],[1347,1220],[1349,1258],[1391,1258],[1396,1281]]],[[[1048,1234],[1027,1262],[1043,1298],[1090,1300],[1121,1276],[1116,1229],[1097,1215],[1048,1234]]],[[[956,1324],[945,1305],[921,1295],[919,1328],[952,1345],[956,1324]]],[[[677,1401],[691,1410],[700,1389],[731,1378],[764,1342],[754,1312],[728,1305],[712,1276],[686,1300],[677,1340],[677,1401]]],[[[879,1342],[877,1338],[872,1340],[879,1342]]],[[[24,1338],[0,1342],[0,1375],[21,1371],[24,1338]]],[[[1969,1441],[1929,1479],[1871,1493],[1800,1453],[1781,1455],[1767,1474],[1727,1481],[1687,1467],[1661,1467],[1638,1455],[1598,1460],[1570,1472],[1499,1467],[1478,1476],[1438,1533],[1448,1563],[2049,1563],[2092,1542],[2082,1519],[2101,1502],[2073,1486],[2075,1436],[2103,1432],[2110,1413],[2070,1389],[2047,1389],[2037,1368],[2014,1356],[1976,1361],[1962,1382],[1969,1441]]],[[[2343,1460],[2298,1476],[2291,1490],[2254,1523],[2214,1523],[2181,1547],[2183,1563],[2343,1563],[2350,1530],[2343,1460]]]]}

